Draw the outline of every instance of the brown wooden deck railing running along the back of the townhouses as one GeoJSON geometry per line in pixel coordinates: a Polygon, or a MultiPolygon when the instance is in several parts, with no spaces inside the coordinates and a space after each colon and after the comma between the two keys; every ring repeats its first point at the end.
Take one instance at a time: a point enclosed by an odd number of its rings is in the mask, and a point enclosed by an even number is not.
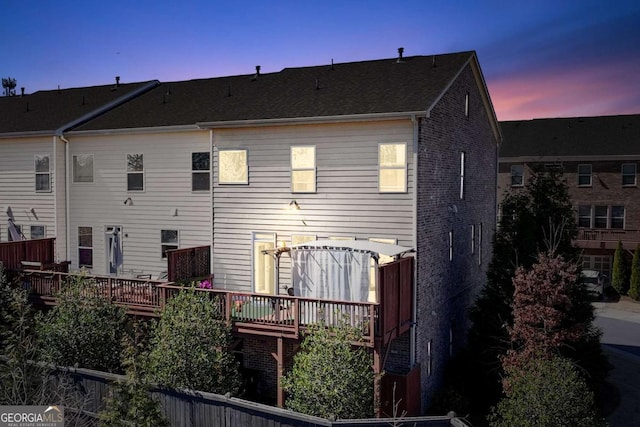
{"type": "MultiPolygon", "coordinates": [[[[55,295],[78,275],[27,270],[23,286],[33,299],[55,305],[55,295]]],[[[86,276],[88,295],[102,296],[127,308],[133,315],[158,316],[167,302],[185,288],[173,283],[121,277],[86,276]]],[[[360,328],[365,345],[373,347],[380,336],[380,306],[374,303],[318,300],[289,295],[265,295],[219,289],[195,288],[211,298],[221,319],[238,334],[299,338],[311,324],[346,324],[360,328]]]]}

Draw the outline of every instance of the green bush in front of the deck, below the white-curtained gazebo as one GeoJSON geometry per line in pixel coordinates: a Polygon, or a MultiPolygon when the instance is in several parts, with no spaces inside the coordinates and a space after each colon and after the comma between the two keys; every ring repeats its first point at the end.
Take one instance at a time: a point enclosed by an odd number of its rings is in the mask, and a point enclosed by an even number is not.
{"type": "Polygon", "coordinates": [[[347,322],[338,327],[312,325],[283,378],[286,406],[327,419],[373,416],[373,358],[352,343],[362,333],[347,322]]]}

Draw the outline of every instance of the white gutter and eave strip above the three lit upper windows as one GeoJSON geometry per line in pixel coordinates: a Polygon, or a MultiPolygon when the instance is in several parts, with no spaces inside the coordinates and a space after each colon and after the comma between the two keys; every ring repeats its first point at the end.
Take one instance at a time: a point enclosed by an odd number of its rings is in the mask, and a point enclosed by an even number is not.
{"type": "Polygon", "coordinates": [[[348,114],[340,116],[314,116],[314,117],[286,117],[276,119],[254,119],[254,120],[226,120],[216,122],[198,122],[196,126],[200,129],[216,128],[237,128],[252,126],[276,126],[294,124],[314,124],[314,123],[344,123],[372,120],[395,120],[410,119],[416,116],[426,116],[426,111],[405,111],[392,113],[368,113],[368,114],[348,114]]]}

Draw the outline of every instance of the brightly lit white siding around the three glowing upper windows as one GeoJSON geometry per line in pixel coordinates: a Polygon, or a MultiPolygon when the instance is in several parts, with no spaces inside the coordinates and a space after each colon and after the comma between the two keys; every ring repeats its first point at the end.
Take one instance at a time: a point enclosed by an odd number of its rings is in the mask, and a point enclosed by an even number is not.
{"type": "MultiPolygon", "coordinates": [[[[214,264],[216,286],[251,289],[251,232],[397,239],[413,243],[411,121],[214,130],[214,264]],[[378,191],[378,144],[406,143],[408,191],[378,191]],[[316,146],[317,191],[290,190],[290,147],[316,146]],[[217,150],[248,150],[249,184],[217,184],[217,150]],[[300,210],[286,209],[296,200],[300,210]],[[304,221],[304,223],[303,223],[304,221]],[[306,225],[305,225],[306,224],[306,225]]],[[[290,262],[280,262],[280,286],[290,262]]]]}

